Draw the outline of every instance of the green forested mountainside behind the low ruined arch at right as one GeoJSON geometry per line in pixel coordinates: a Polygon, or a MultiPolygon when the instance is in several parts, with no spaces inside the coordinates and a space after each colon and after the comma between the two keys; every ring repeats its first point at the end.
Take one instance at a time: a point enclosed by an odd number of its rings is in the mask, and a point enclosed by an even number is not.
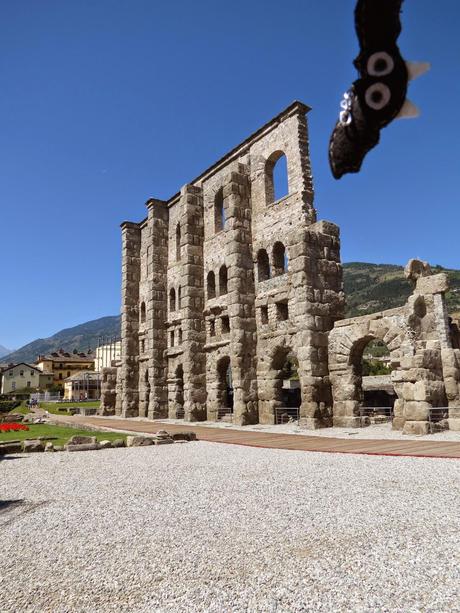
{"type": "MultiPolygon", "coordinates": [[[[446,297],[449,312],[460,311],[460,270],[441,266],[435,266],[432,270],[433,273],[447,272],[450,281],[450,291],[446,297]]],[[[346,317],[402,306],[412,293],[412,286],[404,277],[402,266],[349,262],[343,265],[343,273],[347,296],[346,317]]]]}

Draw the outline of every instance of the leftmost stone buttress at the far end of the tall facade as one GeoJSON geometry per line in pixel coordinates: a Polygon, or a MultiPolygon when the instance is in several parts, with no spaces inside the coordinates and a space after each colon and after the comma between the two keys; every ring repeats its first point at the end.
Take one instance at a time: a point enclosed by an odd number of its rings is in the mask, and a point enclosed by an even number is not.
{"type": "Polygon", "coordinates": [[[141,229],[138,224],[124,222],[122,228],[121,284],[121,414],[139,414],[139,281],[141,229]]]}

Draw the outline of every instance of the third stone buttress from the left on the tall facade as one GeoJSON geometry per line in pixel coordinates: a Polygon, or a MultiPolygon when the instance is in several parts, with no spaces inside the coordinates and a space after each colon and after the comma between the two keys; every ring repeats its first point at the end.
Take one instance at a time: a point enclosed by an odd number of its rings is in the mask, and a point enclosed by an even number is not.
{"type": "Polygon", "coordinates": [[[186,185],[181,190],[181,305],[184,368],[184,411],[188,421],[206,419],[204,345],[203,196],[186,185]]]}

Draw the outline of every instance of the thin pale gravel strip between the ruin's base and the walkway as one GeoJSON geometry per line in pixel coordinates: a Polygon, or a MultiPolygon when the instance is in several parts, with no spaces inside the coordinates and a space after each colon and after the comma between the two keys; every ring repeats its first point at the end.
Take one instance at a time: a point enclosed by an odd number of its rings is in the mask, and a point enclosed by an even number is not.
{"type": "MultiPolygon", "coordinates": [[[[113,419],[110,417],[101,417],[101,420],[113,419]]],[[[144,417],[131,418],[129,421],[141,421],[146,423],[152,423],[152,420],[145,419],[144,417]]],[[[183,419],[162,419],[159,420],[162,423],[181,424],[184,429],[190,426],[190,422],[183,419]]],[[[128,422],[129,423],[129,422],[128,422]]],[[[103,425],[103,424],[101,424],[103,425]]],[[[195,422],[195,426],[208,426],[211,428],[233,428],[237,430],[255,430],[257,432],[277,432],[279,434],[299,434],[302,436],[326,436],[333,438],[356,438],[356,439],[389,439],[400,441],[457,441],[460,442],[460,432],[453,430],[444,430],[443,432],[436,432],[435,434],[427,434],[426,436],[410,436],[403,434],[399,430],[392,430],[391,424],[378,424],[366,426],[365,428],[320,428],[318,430],[305,430],[299,428],[296,423],[282,424],[278,426],[265,426],[262,424],[256,424],[254,426],[236,426],[233,424],[225,423],[222,421],[200,421],[195,422]]]]}

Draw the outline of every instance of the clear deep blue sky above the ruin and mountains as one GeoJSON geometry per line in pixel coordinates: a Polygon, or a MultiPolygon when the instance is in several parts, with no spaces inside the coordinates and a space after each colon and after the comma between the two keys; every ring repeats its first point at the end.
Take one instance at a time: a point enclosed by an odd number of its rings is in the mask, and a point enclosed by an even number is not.
{"type": "Polygon", "coordinates": [[[312,107],[320,219],[343,261],[459,267],[460,4],[406,0],[429,60],[417,120],[335,181],[327,145],[355,77],[354,0],[24,0],[0,20],[0,343],[119,312],[122,220],[144,217],[294,99],[312,107]]]}

